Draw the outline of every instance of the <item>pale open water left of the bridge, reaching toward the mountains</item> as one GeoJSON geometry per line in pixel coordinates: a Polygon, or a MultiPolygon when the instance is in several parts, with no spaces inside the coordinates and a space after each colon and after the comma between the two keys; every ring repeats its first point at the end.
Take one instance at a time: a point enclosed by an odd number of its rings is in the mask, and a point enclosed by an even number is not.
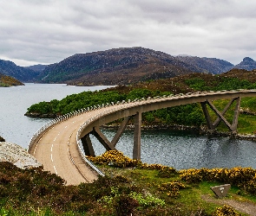
{"type": "Polygon", "coordinates": [[[107,86],[66,86],[65,84],[25,84],[0,87],[0,136],[10,143],[27,148],[33,134],[49,119],[24,116],[30,105],[62,99],[69,94],[95,91],[107,86]]]}

